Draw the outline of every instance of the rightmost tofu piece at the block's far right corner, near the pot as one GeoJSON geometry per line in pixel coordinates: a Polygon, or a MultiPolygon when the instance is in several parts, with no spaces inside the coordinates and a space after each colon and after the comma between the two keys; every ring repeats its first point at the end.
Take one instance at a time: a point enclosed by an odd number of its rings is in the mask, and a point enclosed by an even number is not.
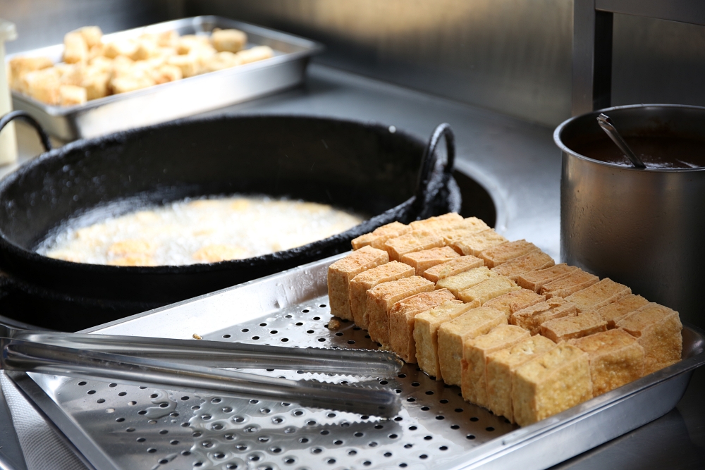
{"type": "Polygon", "coordinates": [[[678,312],[659,304],[644,307],[617,322],[644,348],[644,375],[680,361],[683,337],[678,312]]]}

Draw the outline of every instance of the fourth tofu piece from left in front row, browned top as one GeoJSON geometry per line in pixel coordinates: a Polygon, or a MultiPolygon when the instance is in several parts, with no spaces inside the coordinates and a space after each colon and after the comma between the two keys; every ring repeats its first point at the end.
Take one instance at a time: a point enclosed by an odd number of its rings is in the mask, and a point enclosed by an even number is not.
{"type": "Polygon", "coordinates": [[[416,316],[454,299],[450,290],[441,289],[421,292],[396,302],[389,311],[389,344],[392,351],[404,361],[416,364],[416,316]]]}

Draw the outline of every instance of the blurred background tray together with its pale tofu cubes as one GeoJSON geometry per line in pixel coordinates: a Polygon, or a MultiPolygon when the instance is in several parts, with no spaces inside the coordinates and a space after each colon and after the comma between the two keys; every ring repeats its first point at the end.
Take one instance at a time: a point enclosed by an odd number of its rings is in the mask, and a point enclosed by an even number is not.
{"type": "MultiPolygon", "coordinates": [[[[95,27],[82,28],[77,32],[68,33],[66,44],[11,54],[6,60],[9,63],[17,57],[48,58],[51,63],[59,66],[65,65],[63,61],[79,61],[78,63],[84,61],[87,68],[90,68],[94,66],[90,58],[92,47],[87,50],[87,58],[65,55],[69,51],[68,47],[71,46],[69,39],[72,39],[72,35],[76,35],[77,37],[73,39],[80,42],[80,31],[85,31],[85,36],[90,36],[93,30],[99,31],[95,27]]],[[[245,35],[240,34],[245,38],[245,43],[241,45],[242,54],[237,57],[233,54],[231,58],[229,51],[232,49],[230,47],[232,44],[225,43],[223,43],[224,49],[214,43],[216,54],[212,54],[212,60],[205,65],[185,60],[192,54],[180,56],[176,54],[171,62],[166,61],[164,70],[156,74],[159,75],[154,82],[156,84],[142,87],[139,84],[135,85],[137,80],[134,77],[130,76],[127,79],[119,77],[116,84],[109,82],[107,96],[101,94],[97,98],[90,96],[94,92],[93,84],[86,83],[87,80],[94,78],[93,75],[82,78],[80,82],[71,82],[71,86],[63,87],[62,90],[65,89],[67,92],[65,99],[63,95],[59,96],[58,92],[55,93],[56,97],[48,99],[42,93],[35,93],[35,96],[32,96],[31,90],[18,91],[18,88],[21,88],[18,85],[13,87],[12,91],[13,106],[15,109],[30,113],[47,132],[61,140],[97,137],[109,132],[192,116],[294,87],[303,81],[309,58],[322,50],[321,44],[317,42],[266,27],[219,16],[198,16],[103,35],[99,39],[102,41],[102,47],[109,51],[105,52],[108,54],[104,56],[106,60],[100,62],[102,62],[101,65],[106,65],[109,60],[114,61],[118,58],[118,61],[122,59],[129,66],[145,56],[145,60],[140,60],[138,64],[144,65],[151,59],[149,54],[153,52],[152,49],[164,51],[168,47],[161,47],[159,43],[156,48],[142,47],[145,44],[140,43],[140,38],[175,32],[178,37],[186,36],[187,39],[194,37],[208,39],[217,30],[237,30],[237,34],[244,32],[245,35]],[[217,51],[223,51],[226,54],[217,51]],[[260,54],[262,56],[255,57],[257,55],[255,53],[262,53],[260,54]],[[228,58],[233,63],[225,63],[228,58]],[[176,59],[183,60],[176,61],[176,59]],[[166,70],[175,66],[179,68],[176,70],[178,76],[173,76],[171,70],[166,70]],[[194,67],[202,70],[191,70],[194,67]],[[72,93],[81,92],[79,89],[81,85],[87,87],[88,101],[78,97],[78,93],[72,93]],[[111,91],[113,87],[115,90],[111,91]]],[[[228,39],[231,38],[226,38],[228,39]]],[[[234,39],[237,42],[240,38],[234,39]]],[[[230,42],[233,42],[233,39],[230,42]]],[[[177,45],[178,47],[180,46],[177,45]]],[[[37,67],[37,64],[29,65],[30,68],[37,67]]],[[[66,65],[75,64],[72,62],[66,65]]],[[[120,70],[125,66],[125,64],[119,65],[121,65],[120,70]]],[[[115,74],[112,73],[112,75],[115,74]]],[[[11,80],[11,82],[16,81],[18,80],[11,80]]]]}

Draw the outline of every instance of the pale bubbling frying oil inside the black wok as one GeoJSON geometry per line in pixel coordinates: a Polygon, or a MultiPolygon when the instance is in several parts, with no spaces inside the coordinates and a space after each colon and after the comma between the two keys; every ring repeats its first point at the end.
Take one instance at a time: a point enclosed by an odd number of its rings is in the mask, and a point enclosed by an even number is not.
{"type": "Polygon", "coordinates": [[[68,226],[43,242],[37,252],[113,266],[215,263],[300,247],[360,222],[359,216],[314,202],[267,197],[187,199],[93,225],[68,226]]]}

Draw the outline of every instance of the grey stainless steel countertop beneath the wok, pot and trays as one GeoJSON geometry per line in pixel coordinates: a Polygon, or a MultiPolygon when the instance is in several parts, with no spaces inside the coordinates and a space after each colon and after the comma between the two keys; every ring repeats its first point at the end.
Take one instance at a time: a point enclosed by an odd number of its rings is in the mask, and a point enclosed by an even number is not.
{"type": "MultiPolygon", "coordinates": [[[[465,104],[312,65],[303,87],[207,113],[336,116],[394,125],[427,139],[436,125],[453,127],[460,171],[492,195],[496,229],[525,238],[558,259],[560,151],[553,129],[465,104]]],[[[39,153],[32,130],[18,125],[20,159],[39,153]]],[[[0,168],[0,177],[12,168],[0,168]]],[[[705,468],[705,371],[696,371],[678,407],[642,428],[554,469],[705,468]]],[[[0,429],[4,417],[0,413],[0,429]]],[[[10,445],[0,439],[0,445],[10,445]]],[[[1,452],[11,454],[9,447],[1,452]]],[[[32,470],[32,469],[30,469],[32,470]]]]}

